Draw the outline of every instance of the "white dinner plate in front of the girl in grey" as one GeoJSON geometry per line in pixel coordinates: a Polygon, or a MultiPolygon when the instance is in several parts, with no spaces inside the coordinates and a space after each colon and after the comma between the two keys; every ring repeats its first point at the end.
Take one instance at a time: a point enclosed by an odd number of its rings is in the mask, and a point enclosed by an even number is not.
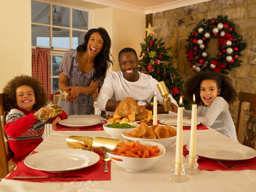
{"type": "MultiPolygon", "coordinates": [[[[187,145],[189,150],[189,145],[187,145]]],[[[215,160],[245,160],[256,157],[256,150],[240,143],[220,141],[196,142],[196,155],[215,160]]]]}

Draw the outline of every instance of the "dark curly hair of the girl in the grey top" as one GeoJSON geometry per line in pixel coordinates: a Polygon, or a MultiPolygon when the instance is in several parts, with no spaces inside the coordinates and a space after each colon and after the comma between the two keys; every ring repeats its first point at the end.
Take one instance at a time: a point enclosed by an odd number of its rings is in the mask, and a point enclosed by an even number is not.
{"type": "Polygon", "coordinates": [[[234,86],[232,85],[231,78],[226,74],[211,71],[196,73],[185,82],[185,98],[193,102],[193,94],[195,93],[195,103],[198,105],[204,105],[200,97],[200,86],[203,80],[216,81],[218,89],[221,88],[219,96],[223,97],[229,104],[236,99],[237,94],[234,86]]]}

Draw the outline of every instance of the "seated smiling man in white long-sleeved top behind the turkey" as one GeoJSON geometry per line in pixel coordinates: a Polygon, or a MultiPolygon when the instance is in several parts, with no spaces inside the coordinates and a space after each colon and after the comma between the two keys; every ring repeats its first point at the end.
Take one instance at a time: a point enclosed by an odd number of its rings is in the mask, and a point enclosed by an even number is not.
{"type": "MultiPolygon", "coordinates": [[[[115,111],[116,106],[126,97],[147,103],[146,109],[152,110],[149,104],[152,97],[157,96],[158,102],[163,102],[156,84],[158,81],[152,76],[138,72],[137,53],[132,48],[124,48],[118,54],[120,71],[109,73],[104,79],[97,99],[100,111],[115,111]]],[[[177,102],[169,95],[172,108],[178,108],[177,102]]],[[[157,113],[168,113],[164,107],[157,108],[157,113]]]]}

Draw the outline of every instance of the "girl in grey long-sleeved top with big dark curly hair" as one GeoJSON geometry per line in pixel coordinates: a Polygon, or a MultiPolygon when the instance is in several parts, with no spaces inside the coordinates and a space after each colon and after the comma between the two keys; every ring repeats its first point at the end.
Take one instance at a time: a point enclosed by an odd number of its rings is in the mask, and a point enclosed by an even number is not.
{"type": "MultiPolygon", "coordinates": [[[[197,120],[204,126],[224,134],[237,141],[236,128],[228,103],[236,99],[232,80],[223,73],[200,72],[189,78],[184,85],[185,97],[193,101],[196,97],[197,120]]],[[[184,110],[184,116],[191,116],[191,111],[184,110]]]]}

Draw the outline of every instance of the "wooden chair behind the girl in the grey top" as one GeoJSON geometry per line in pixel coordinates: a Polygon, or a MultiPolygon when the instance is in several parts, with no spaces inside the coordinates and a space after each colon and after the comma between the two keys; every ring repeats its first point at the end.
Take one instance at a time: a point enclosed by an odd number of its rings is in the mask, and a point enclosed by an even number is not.
{"type": "Polygon", "coordinates": [[[256,150],[256,94],[239,92],[238,100],[239,107],[236,121],[237,139],[238,141],[240,141],[242,138],[244,102],[248,102],[250,103],[249,111],[252,112],[252,114],[249,116],[246,123],[246,135],[244,137],[243,145],[246,145],[256,150]]]}

